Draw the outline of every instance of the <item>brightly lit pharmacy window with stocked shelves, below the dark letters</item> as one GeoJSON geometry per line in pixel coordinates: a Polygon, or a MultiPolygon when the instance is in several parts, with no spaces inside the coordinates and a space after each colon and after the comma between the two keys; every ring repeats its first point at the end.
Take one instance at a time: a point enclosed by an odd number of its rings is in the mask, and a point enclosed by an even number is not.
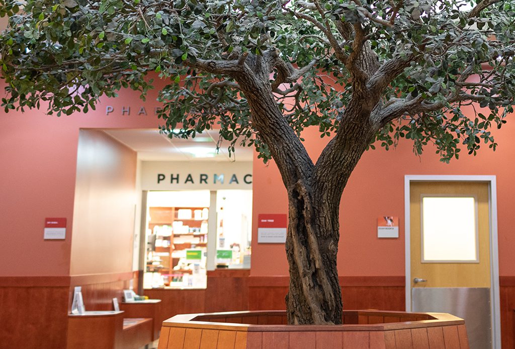
{"type": "Polygon", "coordinates": [[[207,287],[207,271],[250,269],[252,190],[146,191],[143,288],[207,287]]]}

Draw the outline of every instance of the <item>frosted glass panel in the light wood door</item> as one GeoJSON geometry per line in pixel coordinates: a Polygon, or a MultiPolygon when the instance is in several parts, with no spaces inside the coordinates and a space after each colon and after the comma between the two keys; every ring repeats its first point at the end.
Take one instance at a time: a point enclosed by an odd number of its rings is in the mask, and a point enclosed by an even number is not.
{"type": "Polygon", "coordinates": [[[474,197],[422,197],[422,262],[477,262],[474,197]]]}

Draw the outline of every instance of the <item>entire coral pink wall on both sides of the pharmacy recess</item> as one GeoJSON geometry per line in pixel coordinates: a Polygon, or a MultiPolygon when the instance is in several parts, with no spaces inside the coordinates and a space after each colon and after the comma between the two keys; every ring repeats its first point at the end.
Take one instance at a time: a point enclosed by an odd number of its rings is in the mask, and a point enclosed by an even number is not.
{"type": "MultiPolygon", "coordinates": [[[[154,100],[155,95],[150,95],[147,102],[142,102],[137,93],[124,91],[120,97],[104,99],[96,111],[87,115],[77,113],[61,118],[37,110],[7,115],[0,111],[0,276],[70,275],[79,129],[155,128],[159,120],[153,115],[157,106],[154,100]],[[114,111],[106,115],[108,105],[114,111]],[[124,106],[131,107],[130,115],[122,115],[124,106]],[[148,115],[137,115],[141,106],[146,107],[148,115]],[[43,240],[45,217],[67,218],[66,240],[43,240]]],[[[406,174],[496,175],[500,273],[515,275],[515,241],[511,237],[515,226],[515,140],[510,137],[513,134],[515,122],[509,120],[502,130],[495,132],[500,144],[496,152],[482,148],[478,156],[463,154],[459,161],[449,165],[440,163],[430,147],[421,158],[414,156],[409,141],[401,142],[394,151],[379,149],[365,153],[342,196],[340,275],[404,275],[406,174]],[[376,238],[376,218],[385,214],[400,217],[399,239],[376,238]]],[[[320,139],[316,129],[307,130],[305,138],[308,152],[317,158],[327,139],[320,139]]],[[[265,166],[255,159],[253,182],[251,275],[287,275],[284,245],[258,244],[256,237],[259,213],[287,212],[279,172],[273,163],[265,166]]],[[[83,243],[87,249],[93,241],[83,243]]],[[[130,256],[132,248],[125,253],[130,256]]],[[[80,268],[84,269],[77,272],[89,271],[95,265],[90,260],[82,263],[80,268]]]]}

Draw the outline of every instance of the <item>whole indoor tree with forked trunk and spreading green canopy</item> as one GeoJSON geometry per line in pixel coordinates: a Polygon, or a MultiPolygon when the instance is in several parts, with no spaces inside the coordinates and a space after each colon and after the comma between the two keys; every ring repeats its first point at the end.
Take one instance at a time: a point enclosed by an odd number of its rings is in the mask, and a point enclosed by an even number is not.
{"type": "Polygon", "coordinates": [[[70,115],[152,88],[170,137],[220,129],[273,158],[289,200],[288,322],[339,324],[338,207],[367,148],[495,149],[515,96],[515,2],[0,0],[2,106],[70,115]],[[471,6],[469,6],[471,5],[471,6]],[[474,105],[464,114],[462,106],[474,105]],[[301,131],[329,141],[313,163],[301,131]]]}

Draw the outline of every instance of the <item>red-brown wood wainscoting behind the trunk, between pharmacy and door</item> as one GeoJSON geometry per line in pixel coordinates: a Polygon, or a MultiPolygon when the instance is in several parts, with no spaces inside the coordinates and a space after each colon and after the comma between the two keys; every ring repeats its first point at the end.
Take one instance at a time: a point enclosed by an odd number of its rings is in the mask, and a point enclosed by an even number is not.
{"type": "MultiPolygon", "coordinates": [[[[344,309],[405,310],[404,276],[340,276],[344,309]]],[[[284,310],[288,276],[249,277],[249,310],[284,310]]]]}

